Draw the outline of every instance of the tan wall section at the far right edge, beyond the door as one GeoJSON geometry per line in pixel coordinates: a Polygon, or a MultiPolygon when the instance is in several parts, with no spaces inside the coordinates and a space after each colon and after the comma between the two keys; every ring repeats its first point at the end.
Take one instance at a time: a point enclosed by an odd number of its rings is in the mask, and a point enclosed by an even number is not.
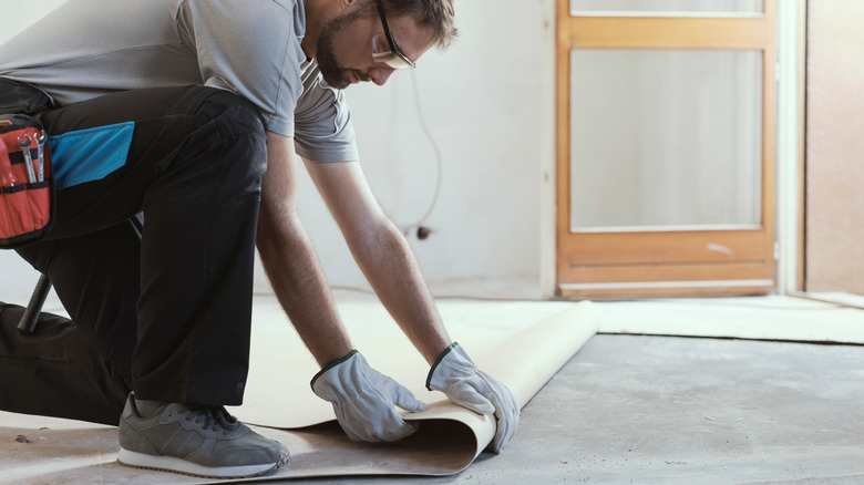
{"type": "Polygon", "coordinates": [[[806,290],[864,293],[864,2],[808,2],[806,290]]]}

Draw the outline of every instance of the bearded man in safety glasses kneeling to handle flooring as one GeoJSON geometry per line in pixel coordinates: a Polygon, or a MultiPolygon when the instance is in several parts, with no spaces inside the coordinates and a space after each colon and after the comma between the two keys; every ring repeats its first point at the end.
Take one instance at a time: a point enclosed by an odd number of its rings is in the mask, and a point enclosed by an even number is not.
{"type": "Polygon", "coordinates": [[[19,254],[74,322],[49,318],[20,336],[3,319],[0,385],[19,391],[2,392],[0,407],[120,421],[119,460],[134,466],[220,477],[277,468],[287,451],[223,407],[243,399],[257,244],[322,367],[312,389],[346,433],[374,442],[415,431],[394,406],[425,405],[368,365],[336,312],[297,217],[298,153],[431,365],[426,385],[494,413],[501,451],[518,404],[448,336],[363,177],[340,91],[384,84],[454,33],[452,0],[70,0],[0,47],[0,112],[39,120],[55,162],[54,228],[19,254]],[[141,237],[127,223],[137,213],[141,237]]]}

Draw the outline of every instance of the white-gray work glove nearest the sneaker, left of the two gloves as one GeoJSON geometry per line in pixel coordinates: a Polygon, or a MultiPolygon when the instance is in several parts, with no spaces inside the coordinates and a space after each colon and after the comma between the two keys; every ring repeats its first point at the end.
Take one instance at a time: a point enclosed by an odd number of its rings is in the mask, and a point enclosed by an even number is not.
{"type": "Polygon", "coordinates": [[[333,405],[339,425],[353,441],[402,440],[419,426],[402,420],[394,405],[413,413],[426,410],[411,391],[369,367],[357,350],[321,369],[311,384],[333,405]]]}

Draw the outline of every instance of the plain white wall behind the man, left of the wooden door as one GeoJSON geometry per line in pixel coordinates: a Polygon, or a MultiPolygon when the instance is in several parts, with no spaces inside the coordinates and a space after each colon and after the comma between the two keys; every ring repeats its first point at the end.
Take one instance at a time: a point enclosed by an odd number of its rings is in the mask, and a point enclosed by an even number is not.
{"type": "MultiPolygon", "coordinates": [[[[38,0],[21,8],[19,0],[0,0],[0,42],[61,3],[38,0]]],[[[347,92],[370,184],[394,220],[410,226],[426,211],[436,177],[416,114],[416,82],[443,168],[441,197],[425,223],[435,233],[413,240],[430,280],[539,278],[539,220],[548,216],[541,208],[542,180],[549,182],[554,140],[553,11],[552,0],[456,0],[461,35],[446,53],[428,53],[415,72],[397,73],[383,89],[347,92]]],[[[330,281],[360,283],[306,175],[301,207],[330,281]]],[[[25,298],[35,278],[14,254],[0,251],[0,300],[25,298]]]]}

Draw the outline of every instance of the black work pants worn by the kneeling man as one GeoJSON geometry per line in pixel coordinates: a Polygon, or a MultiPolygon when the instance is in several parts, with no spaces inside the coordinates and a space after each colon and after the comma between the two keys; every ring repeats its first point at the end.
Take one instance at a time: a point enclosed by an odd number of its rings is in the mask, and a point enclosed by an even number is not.
{"type": "MultiPolygon", "coordinates": [[[[4,86],[21,89],[0,80],[0,111],[4,86]]],[[[0,313],[0,409],[116,424],[130,390],[240,404],[266,168],[257,110],[186,86],[39,111],[50,136],[135,124],[125,164],[58,190],[53,229],[18,250],[74,324],[49,317],[28,336],[0,313]]]]}

